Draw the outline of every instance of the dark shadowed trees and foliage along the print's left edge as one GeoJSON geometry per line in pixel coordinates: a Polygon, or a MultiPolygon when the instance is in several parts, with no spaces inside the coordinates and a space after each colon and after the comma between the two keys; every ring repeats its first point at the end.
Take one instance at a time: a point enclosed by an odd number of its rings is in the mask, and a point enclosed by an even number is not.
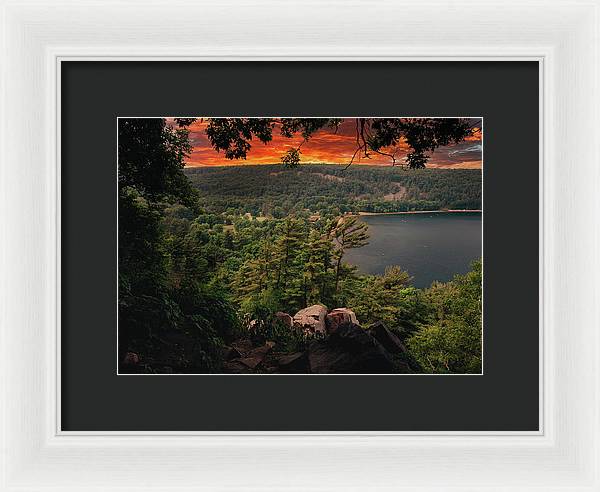
{"type": "Polygon", "coordinates": [[[135,351],[145,372],[217,370],[237,329],[225,293],[205,284],[221,252],[210,226],[193,220],[190,122],[119,120],[119,355],[135,351]]]}

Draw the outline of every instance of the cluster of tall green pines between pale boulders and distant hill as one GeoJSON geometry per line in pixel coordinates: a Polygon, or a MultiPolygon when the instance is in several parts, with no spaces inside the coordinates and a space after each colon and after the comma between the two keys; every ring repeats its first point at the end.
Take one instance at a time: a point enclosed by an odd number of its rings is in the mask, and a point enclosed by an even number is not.
{"type": "MultiPolygon", "coordinates": [[[[311,304],[341,306],[340,286],[356,276],[345,253],[366,244],[367,224],[357,216],[311,222],[305,218],[238,220],[220,271],[245,306],[270,293],[272,309],[296,312],[311,304]]],[[[247,312],[247,311],[246,311],[247,312]]]]}

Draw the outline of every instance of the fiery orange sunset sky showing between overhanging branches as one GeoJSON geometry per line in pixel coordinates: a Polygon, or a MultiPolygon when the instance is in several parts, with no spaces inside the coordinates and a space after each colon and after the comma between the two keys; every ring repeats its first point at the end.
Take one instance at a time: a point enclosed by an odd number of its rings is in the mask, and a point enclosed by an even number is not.
{"type": "MultiPolygon", "coordinates": [[[[170,119],[169,119],[170,120],[170,119]]],[[[427,163],[430,168],[480,169],[482,164],[482,131],[481,119],[472,118],[473,135],[464,142],[438,148],[427,163]]],[[[258,140],[252,142],[252,149],[247,159],[229,160],[223,152],[214,150],[205,133],[206,119],[199,118],[190,126],[192,154],[186,161],[187,167],[198,166],[231,166],[243,164],[278,164],[281,156],[289,149],[297,147],[301,136],[286,138],[280,135],[279,129],[273,130],[273,140],[263,144],[258,140]]],[[[403,163],[407,153],[407,145],[401,142],[396,148],[397,164],[403,163]]],[[[347,164],[356,150],[356,129],[354,118],[346,118],[337,132],[326,128],[317,131],[301,147],[301,162],[347,164]]],[[[389,150],[389,149],[388,149],[389,150]]],[[[373,154],[370,159],[355,159],[355,164],[391,165],[389,157],[373,154]]]]}

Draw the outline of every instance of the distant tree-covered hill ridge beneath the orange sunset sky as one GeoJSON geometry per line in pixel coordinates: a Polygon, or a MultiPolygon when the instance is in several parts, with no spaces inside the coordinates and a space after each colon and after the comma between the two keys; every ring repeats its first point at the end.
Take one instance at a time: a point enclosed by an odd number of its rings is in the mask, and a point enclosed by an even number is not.
{"type": "Polygon", "coordinates": [[[306,164],[187,168],[209,213],[282,218],[290,212],[481,209],[481,170],[306,164]]]}

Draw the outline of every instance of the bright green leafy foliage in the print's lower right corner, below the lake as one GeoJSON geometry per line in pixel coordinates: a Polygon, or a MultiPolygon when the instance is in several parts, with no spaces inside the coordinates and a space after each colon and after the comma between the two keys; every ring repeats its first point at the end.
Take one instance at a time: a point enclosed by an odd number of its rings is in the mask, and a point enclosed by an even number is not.
{"type": "Polygon", "coordinates": [[[426,372],[481,372],[481,280],[477,261],[466,275],[425,291],[428,319],[408,346],[426,372]]]}

